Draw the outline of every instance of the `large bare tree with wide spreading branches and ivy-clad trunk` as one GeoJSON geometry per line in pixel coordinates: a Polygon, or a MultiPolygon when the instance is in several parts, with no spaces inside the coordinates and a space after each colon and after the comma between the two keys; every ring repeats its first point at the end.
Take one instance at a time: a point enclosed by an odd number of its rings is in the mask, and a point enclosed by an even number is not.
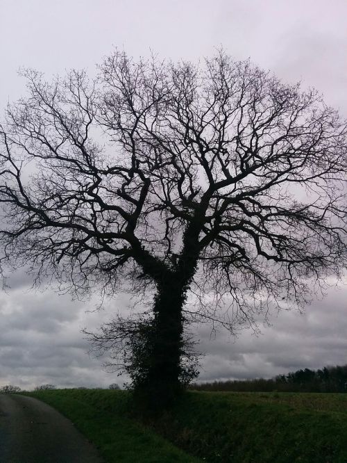
{"type": "Polygon", "coordinates": [[[254,325],[341,276],[346,122],[316,91],[223,53],[25,76],[1,128],[3,261],[81,293],[154,291],[156,398],[180,387],[184,322],[254,325]]]}

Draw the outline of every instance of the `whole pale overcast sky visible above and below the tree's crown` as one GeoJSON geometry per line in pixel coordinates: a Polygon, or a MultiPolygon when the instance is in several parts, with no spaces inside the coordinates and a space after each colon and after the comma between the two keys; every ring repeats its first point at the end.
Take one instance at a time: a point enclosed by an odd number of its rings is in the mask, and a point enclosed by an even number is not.
{"type": "MultiPolygon", "coordinates": [[[[347,115],[346,0],[0,0],[0,110],[24,95],[19,67],[47,76],[95,64],[124,48],[138,57],[198,60],[223,48],[237,59],[303,82],[347,115]]],[[[90,312],[92,302],[31,291],[31,276],[10,279],[0,293],[0,386],[30,388],[122,384],[86,354],[81,328],[92,330],[126,307],[126,298],[90,312]]],[[[255,336],[198,332],[206,352],[201,380],[271,377],[298,368],[347,364],[347,286],[331,289],[305,315],[282,312],[255,336]]]]}

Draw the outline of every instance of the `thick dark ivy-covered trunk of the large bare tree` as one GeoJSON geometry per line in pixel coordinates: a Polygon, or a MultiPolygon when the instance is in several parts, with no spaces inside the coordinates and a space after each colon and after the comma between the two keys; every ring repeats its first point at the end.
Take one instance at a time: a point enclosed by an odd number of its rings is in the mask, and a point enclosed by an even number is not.
{"type": "Polygon", "coordinates": [[[195,220],[185,230],[183,251],[176,272],[162,268],[156,270],[155,274],[157,293],[153,307],[153,330],[147,357],[144,359],[146,374],[135,388],[135,392],[141,394],[140,403],[146,402],[151,409],[158,410],[170,405],[183,387],[180,382],[180,360],[184,352],[182,312],[188,286],[196,271],[200,252],[198,236],[205,209],[196,211],[195,216],[195,220]]]}

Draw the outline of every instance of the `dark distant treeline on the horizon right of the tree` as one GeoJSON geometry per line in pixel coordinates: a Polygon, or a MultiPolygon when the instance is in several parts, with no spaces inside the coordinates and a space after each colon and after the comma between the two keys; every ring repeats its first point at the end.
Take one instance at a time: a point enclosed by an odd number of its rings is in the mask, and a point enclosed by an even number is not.
{"type": "Polygon", "coordinates": [[[347,365],[325,366],[321,370],[305,368],[278,375],[271,380],[230,380],[191,384],[198,391],[243,392],[347,392],[347,365]]]}

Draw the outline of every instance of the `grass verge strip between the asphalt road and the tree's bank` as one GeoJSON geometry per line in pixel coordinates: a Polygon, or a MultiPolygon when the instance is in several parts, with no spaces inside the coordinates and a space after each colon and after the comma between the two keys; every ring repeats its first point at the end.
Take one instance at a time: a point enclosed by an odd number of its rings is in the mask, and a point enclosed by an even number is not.
{"type": "Polygon", "coordinates": [[[124,391],[60,389],[28,395],[43,400],[71,419],[107,463],[200,461],[129,419],[124,391]]]}

